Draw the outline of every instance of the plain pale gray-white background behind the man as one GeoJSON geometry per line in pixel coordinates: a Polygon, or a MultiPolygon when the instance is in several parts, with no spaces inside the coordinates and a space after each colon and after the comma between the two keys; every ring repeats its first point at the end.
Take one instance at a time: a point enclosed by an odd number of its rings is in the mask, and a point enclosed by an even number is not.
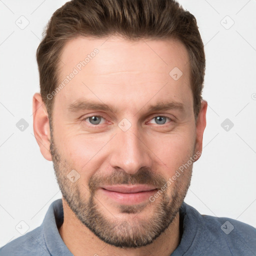
{"type": "MultiPolygon", "coordinates": [[[[36,48],[64,2],[0,0],[0,246],[40,225],[61,198],[52,162],[33,135],[32,95],[39,92],[36,48]]],[[[203,151],[185,202],[256,227],[256,1],[179,2],[196,17],[205,45],[208,101],[203,151]]]]}

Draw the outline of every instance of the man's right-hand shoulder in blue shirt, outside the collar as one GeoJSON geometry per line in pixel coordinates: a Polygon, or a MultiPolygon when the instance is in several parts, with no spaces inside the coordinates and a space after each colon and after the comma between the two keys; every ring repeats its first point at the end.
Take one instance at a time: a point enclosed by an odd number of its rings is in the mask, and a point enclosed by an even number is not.
{"type": "Polygon", "coordinates": [[[207,244],[204,246],[208,253],[226,251],[230,253],[227,255],[256,255],[255,227],[228,217],[200,214],[187,204],[186,213],[193,216],[191,221],[197,222],[200,233],[197,240],[207,244]]]}

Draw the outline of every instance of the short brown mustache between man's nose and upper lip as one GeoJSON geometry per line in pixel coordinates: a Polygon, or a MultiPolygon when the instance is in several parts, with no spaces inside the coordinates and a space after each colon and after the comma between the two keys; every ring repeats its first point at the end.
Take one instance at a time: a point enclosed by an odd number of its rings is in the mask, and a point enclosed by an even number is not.
{"type": "Polygon", "coordinates": [[[115,169],[110,175],[104,175],[101,171],[97,171],[89,179],[88,186],[91,191],[95,191],[100,185],[116,185],[116,184],[146,184],[153,185],[157,188],[162,187],[166,183],[165,178],[153,172],[149,168],[141,167],[136,173],[129,174],[123,170],[115,169]]]}

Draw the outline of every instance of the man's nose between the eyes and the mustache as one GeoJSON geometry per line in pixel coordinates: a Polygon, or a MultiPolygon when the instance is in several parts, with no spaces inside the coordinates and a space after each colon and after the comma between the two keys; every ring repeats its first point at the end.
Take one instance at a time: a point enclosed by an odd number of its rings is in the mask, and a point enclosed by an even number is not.
{"type": "Polygon", "coordinates": [[[148,168],[152,165],[145,136],[133,125],[126,131],[117,127],[117,134],[111,141],[111,147],[110,164],[113,168],[134,174],[141,167],[148,168]]]}

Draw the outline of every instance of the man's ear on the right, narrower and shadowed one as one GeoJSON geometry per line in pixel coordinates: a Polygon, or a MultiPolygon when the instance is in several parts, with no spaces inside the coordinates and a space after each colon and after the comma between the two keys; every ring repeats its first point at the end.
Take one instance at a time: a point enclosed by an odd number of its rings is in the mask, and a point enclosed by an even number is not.
{"type": "MultiPolygon", "coordinates": [[[[206,126],[206,110],[207,110],[207,101],[202,100],[200,111],[198,113],[197,121],[196,121],[196,139],[195,139],[194,153],[196,152],[201,153],[202,151],[202,136],[203,136],[204,128],[206,126]]],[[[198,159],[199,157],[196,160],[198,159]]]]}

